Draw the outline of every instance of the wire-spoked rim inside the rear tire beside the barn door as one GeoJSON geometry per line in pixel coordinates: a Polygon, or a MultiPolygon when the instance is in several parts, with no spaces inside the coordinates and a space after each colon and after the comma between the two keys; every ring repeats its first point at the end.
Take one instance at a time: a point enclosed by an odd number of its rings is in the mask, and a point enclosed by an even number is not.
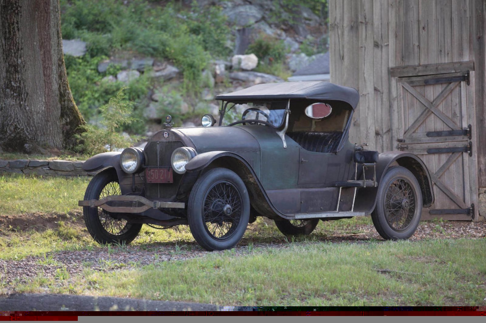
{"type": "Polygon", "coordinates": [[[397,232],[405,231],[417,209],[417,197],[412,185],[405,179],[395,179],[388,186],[383,203],[388,225],[397,232]]]}

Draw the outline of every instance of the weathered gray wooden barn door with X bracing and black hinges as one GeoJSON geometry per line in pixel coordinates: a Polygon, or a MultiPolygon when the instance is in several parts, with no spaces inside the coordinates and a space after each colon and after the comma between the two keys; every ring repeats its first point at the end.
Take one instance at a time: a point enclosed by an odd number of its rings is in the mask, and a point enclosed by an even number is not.
{"type": "Polygon", "coordinates": [[[471,220],[474,216],[474,150],[468,120],[469,71],[396,78],[398,148],[414,153],[429,168],[435,202],[423,219],[471,220]]]}

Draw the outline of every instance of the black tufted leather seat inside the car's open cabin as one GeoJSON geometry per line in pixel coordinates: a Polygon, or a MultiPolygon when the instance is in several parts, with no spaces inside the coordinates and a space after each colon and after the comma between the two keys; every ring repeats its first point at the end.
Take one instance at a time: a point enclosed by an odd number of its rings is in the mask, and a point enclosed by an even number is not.
{"type": "Polygon", "coordinates": [[[343,132],[288,132],[287,135],[305,150],[331,153],[336,151],[343,132]]]}

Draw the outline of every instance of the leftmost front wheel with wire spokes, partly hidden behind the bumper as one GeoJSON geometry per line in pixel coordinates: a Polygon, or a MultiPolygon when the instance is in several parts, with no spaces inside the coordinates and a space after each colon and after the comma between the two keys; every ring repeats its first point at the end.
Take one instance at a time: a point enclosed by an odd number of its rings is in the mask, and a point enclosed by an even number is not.
{"type": "MultiPolygon", "coordinates": [[[[88,184],[85,200],[101,199],[111,195],[121,195],[118,176],[114,171],[96,174],[88,184]]],[[[129,223],[118,219],[101,207],[83,207],[85,224],[89,234],[100,244],[129,244],[137,237],[142,227],[140,223],[129,223]]]]}

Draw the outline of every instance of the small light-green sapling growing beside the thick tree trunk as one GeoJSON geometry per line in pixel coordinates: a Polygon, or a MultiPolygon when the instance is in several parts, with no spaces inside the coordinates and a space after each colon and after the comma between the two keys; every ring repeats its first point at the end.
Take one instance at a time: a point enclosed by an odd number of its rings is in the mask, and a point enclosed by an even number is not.
{"type": "Polygon", "coordinates": [[[123,126],[133,123],[133,104],[126,99],[123,89],[111,98],[107,104],[99,108],[101,120],[99,126],[82,126],[84,132],[76,135],[79,145],[78,151],[89,154],[99,154],[104,151],[113,151],[117,148],[130,146],[139,137],[125,136],[121,133],[123,126]]]}

